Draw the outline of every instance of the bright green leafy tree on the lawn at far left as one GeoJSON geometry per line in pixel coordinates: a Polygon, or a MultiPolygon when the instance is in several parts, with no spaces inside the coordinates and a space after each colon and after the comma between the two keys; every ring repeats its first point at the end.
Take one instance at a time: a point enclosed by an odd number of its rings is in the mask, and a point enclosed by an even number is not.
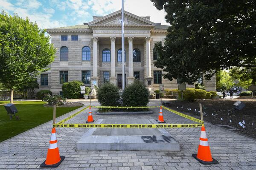
{"type": "Polygon", "coordinates": [[[14,14],[0,14],[0,82],[13,91],[32,81],[49,68],[55,58],[55,48],[38,28],[14,14]]]}

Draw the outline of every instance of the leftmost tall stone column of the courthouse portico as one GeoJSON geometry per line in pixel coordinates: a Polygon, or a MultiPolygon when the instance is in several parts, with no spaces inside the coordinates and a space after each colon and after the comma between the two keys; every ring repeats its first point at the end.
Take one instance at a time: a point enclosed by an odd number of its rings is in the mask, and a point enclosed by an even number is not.
{"type": "Polygon", "coordinates": [[[99,85],[98,77],[98,37],[93,37],[93,77],[92,77],[92,86],[99,85]]]}

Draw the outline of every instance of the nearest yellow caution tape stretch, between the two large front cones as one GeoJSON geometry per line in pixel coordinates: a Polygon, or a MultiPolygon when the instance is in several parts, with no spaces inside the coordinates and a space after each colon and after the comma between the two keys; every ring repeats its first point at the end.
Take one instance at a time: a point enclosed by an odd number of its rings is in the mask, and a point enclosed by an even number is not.
{"type": "Polygon", "coordinates": [[[53,127],[80,128],[183,128],[202,127],[204,124],[53,124],[53,127]]]}

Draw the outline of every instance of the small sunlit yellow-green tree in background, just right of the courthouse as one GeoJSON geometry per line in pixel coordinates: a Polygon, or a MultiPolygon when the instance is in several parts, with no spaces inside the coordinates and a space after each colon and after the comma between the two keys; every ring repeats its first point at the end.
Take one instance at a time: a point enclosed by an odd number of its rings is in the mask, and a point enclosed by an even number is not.
{"type": "Polygon", "coordinates": [[[227,71],[221,70],[216,73],[216,90],[225,91],[235,85],[234,78],[227,71]]]}

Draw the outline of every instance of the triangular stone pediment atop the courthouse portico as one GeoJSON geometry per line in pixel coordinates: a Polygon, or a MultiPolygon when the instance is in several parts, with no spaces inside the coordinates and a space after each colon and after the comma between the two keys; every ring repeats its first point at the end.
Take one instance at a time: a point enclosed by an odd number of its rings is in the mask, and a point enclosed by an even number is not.
{"type": "MultiPolygon", "coordinates": [[[[121,17],[122,10],[113,12],[111,14],[108,14],[104,17],[98,17],[98,19],[91,21],[88,23],[89,26],[93,25],[120,25],[119,23],[116,23],[116,18],[121,17]]],[[[151,22],[150,20],[147,20],[143,17],[139,17],[137,15],[131,14],[130,12],[124,11],[124,17],[128,18],[129,22],[125,23],[125,25],[148,25],[148,26],[154,26],[155,23],[151,22]]]]}

